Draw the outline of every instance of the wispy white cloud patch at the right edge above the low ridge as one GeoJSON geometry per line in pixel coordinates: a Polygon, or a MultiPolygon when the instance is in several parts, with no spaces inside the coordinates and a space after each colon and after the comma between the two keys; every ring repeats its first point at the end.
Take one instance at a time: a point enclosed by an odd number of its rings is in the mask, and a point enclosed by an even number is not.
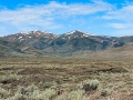
{"type": "Polygon", "coordinates": [[[133,3],[127,2],[122,8],[113,9],[108,11],[106,14],[102,17],[105,20],[110,20],[106,24],[113,28],[113,33],[115,36],[127,36],[133,34],[133,3]]]}

